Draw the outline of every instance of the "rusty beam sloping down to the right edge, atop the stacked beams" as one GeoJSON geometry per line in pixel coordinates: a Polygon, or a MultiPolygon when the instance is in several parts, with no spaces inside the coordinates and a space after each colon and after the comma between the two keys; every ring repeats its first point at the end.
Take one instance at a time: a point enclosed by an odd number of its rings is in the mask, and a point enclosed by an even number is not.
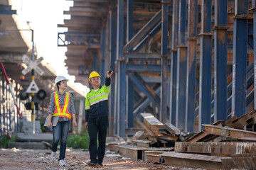
{"type": "Polygon", "coordinates": [[[238,130],[234,128],[218,127],[214,125],[204,126],[206,126],[206,132],[213,135],[233,137],[238,139],[241,139],[243,137],[256,137],[256,132],[250,132],[248,130],[238,130]]]}

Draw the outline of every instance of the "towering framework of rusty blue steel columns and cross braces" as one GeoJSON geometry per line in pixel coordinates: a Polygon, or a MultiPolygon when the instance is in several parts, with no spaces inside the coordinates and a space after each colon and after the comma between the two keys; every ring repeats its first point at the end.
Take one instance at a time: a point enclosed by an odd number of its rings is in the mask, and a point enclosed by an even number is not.
{"type": "Polygon", "coordinates": [[[255,0],[73,1],[68,72],[104,82],[114,70],[109,135],[126,136],[142,112],[195,132],[255,109],[255,0]]]}

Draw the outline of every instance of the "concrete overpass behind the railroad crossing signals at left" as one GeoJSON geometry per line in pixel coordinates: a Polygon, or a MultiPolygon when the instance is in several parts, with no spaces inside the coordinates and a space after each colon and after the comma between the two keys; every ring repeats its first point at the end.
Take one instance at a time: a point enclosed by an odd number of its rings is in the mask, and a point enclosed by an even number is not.
{"type": "MultiPolygon", "coordinates": [[[[26,121],[33,119],[32,111],[27,110],[25,107],[26,103],[31,102],[31,96],[26,100],[21,100],[20,93],[28,89],[32,76],[31,72],[28,72],[25,76],[21,74],[22,70],[27,67],[22,57],[31,58],[34,55],[35,60],[41,57],[38,56],[36,47],[33,50],[32,32],[33,30],[28,26],[28,22],[23,19],[18,5],[11,4],[11,1],[1,0],[0,62],[4,64],[18,108],[23,115],[22,119],[26,121]]],[[[39,101],[35,96],[34,101],[38,103],[38,111],[35,113],[35,119],[42,118],[44,120],[48,115],[50,94],[56,91],[54,79],[57,74],[46,62],[41,62],[41,64],[38,64],[38,67],[43,70],[44,74],[41,76],[35,73],[34,80],[39,89],[46,91],[46,98],[43,101],[39,101]]],[[[81,115],[80,119],[82,120],[82,109],[80,107],[83,105],[80,103],[84,103],[85,94],[72,84],[69,85],[68,91],[71,91],[73,96],[75,96],[76,111],[81,115]]],[[[14,106],[14,99],[11,96],[11,91],[6,83],[2,69],[0,70],[0,98],[0,135],[6,135],[8,132],[19,132],[21,118],[18,116],[16,107],[14,106]]]]}

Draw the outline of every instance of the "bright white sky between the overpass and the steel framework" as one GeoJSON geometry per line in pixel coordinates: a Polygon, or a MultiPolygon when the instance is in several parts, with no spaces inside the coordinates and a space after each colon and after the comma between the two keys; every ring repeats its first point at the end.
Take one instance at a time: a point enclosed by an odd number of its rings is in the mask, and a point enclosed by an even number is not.
{"type": "MultiPolygon", "coordinates": [[[[65,67],[66,47],[58,47],[58,33],[67,31],[67,28],[58,28],[58,24],[63,24],[64,19],[70,19],[69,15],[63,15],[63,11],[68,11],[69,6],[73,6],[73,1],[65,0],[12,0],[13,4],[20,6],[23,18],[29,22],[29,26],[34,30],[34,42],[38,55],[44,57],[50,67],[55,69],[57,75],[67,77],[70,82],[75,81],[74,76],[68,75],[65,67]]],[[[19,14],[19,13],[18,13],[19,14]]],[[[75,83],[81,91],[87,93],[89,89],[80,83],[75,83]]]]}

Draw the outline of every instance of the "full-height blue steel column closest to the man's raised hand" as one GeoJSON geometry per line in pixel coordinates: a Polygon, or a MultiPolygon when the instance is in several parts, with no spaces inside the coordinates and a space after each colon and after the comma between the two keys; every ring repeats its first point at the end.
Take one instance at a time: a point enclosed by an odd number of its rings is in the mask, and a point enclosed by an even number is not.
{"type": "Polygon", "coordinates": [[[118,135],[125,137],[126,128],[126,83],[125,83],[125,62],[123,59],[124,44],[124,0],[118,0],[117,5],[117,114],[118,114],[118,135]]]}

